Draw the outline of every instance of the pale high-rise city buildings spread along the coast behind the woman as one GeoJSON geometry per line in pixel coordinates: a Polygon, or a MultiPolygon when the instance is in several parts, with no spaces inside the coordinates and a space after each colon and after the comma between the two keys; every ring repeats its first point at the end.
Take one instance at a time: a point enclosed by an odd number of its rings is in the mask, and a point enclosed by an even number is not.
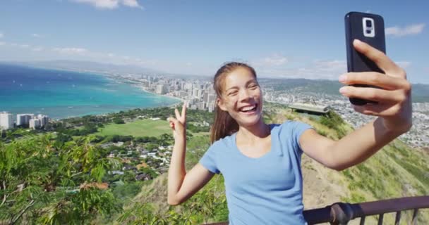
{"type": "MultiPolygon", "coordinates": [[[[116,78],[133,82],[143,91],[154,94],[179,98],[186,101],[187,107],[193,110],[206,110],[213,112],[216,94],[212,82],[205,77],[178,78],[159,75],[115,75],[116,78]]],[[[264,90],[264,100],[284,105],[310,104],[316,108],[330,108],[342,116],[346,122],[358,128],[373,120],[373,117],[356,113],[351,108],[349,99],[339,94],[323,94],[315,91],[303,90],[301,87],[291,89],[274,89],[272,82],[260,82],[264,90]]],[[[0,113],[0,127],[11,129],[13,127],[29,127],[40,129],[47,124],[47,115],[18,114],[13,120],[11,113],[0,113]]],[[[411,146],[429,146],[429,103],[413,103],[413,127],[409,132],[400,136],[402,141],[411,146]]]]}

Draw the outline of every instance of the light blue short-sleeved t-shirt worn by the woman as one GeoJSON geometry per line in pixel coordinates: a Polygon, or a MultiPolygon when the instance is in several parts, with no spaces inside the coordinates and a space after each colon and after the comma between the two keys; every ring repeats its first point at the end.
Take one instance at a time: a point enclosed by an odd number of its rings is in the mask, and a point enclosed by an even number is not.
{"type": "Polygon", "coordinates": [[[249,158],[236,146],[236,133],[212,144],[200,164],[224,176],[229,224],[306,224],[299,137],[303,122],[271,124],[271,150],[249,158]]]}

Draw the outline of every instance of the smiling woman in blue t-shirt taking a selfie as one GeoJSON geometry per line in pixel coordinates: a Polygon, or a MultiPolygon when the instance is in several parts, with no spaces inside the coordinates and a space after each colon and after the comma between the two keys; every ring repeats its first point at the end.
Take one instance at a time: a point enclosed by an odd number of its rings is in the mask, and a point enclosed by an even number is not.
{"type": "Polygon", "coordinates": [[[354,110],[377,119],[338,141],[319,135],[302,122],[265,124],[262,93],[255,70],[229,63],[214,76],[217,106],[211,130],[212,146],[186,172],[186,107],[169,118],[174,150],[168,177],[168,202],[178,205],[191,198],[222,172],[230,224],[306,224],[303,218],[301,154],[338,171],[363,162],[382,146],[411,128],[411,84],[406,73],[384,53],[361,41],[354,48],[373,60],[385,75],[350,72],[343,84],[370,84],[382,89],[344,86],[349,98],[377,101],[354,105],[354,110]]]}

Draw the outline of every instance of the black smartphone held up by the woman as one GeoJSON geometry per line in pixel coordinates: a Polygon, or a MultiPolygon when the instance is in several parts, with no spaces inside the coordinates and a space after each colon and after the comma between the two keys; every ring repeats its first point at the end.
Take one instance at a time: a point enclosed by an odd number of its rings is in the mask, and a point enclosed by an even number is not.
{"type": "MultiPolygon", "coordinates": [[[[344,22],[346,25],[347,71],[375,71],[385,73],[378,68],[372,60],[363,56],[363,54],[358,53],[353,46],[353,40],[359,39],[360,41],[375,47],[375,49],[386,53],[385,23],[383,18],[380,15],[371,13],[350,12],[345,15],[344,22]]],[[[353,86],[371,85],[353,84],[353,86]]],[[[377,104],[375,101],[368,101],[361,98],[350,98],[350,102],[354,105],[377,104]]]]}

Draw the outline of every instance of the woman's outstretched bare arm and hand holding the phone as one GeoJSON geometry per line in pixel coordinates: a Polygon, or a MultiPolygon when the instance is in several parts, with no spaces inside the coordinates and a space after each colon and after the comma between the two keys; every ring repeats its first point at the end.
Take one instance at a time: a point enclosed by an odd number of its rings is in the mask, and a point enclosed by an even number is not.
{"type": "Polygon", "coordinates": [[[404,134],[412,126],[411,84],[406,72],[384,53],[362,41],[355,40],[357,51],[373,60],[385,74],[378,72],[349,72],[339,78],[343,84],[370,84],[372,87],[343,86],[342,95],[377,101],[377,104],[354,105],[354,110],[377,119],[339,141],[320,136],[314,130],[300,137],[303,152],[332,169],[346,169],[366,160],[387,143],[404,134]]]}

